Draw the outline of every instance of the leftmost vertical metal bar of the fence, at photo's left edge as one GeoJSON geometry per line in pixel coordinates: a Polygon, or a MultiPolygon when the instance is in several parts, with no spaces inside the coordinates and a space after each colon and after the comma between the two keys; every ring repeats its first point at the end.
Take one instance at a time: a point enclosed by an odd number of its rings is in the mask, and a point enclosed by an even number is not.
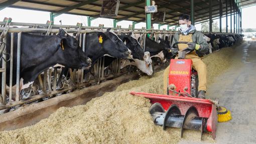
{"type": "MultiPolygon", "coordinates": [[[[6,37],[4,38],[4,43],[7,43],[6,37]]],[[[3,45],[3,47],[6,47],[6,45],[3,45]]],[[[6,55],[4,54],[5,51],[7,51],[6,48],[4,48],[3,53],[2,53],[2,67],[5,69],[5,71],[2,72],[2,97],[3,97],[3,104],[6,104],[6,55]]]]}

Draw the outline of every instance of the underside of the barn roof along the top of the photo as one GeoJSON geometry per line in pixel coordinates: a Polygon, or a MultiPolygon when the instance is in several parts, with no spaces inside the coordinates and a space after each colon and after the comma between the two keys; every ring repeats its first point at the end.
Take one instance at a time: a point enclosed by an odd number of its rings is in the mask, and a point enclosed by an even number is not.
{"type": "MultiPolygon", "coordinates": [[[[220,0],[212,0],[212,18],[219,18],[220,16],[220,0]]],[[[176,25],[180,14],[190,14],[190,0],[156,0],[158,11],[165,12],[165,22],[161,24],[176,25]]],[[[236,3],[237,6],[247,7],[256,4],[256,0],[222,0],[222,16],[227,13],[230,14],[230,2],[236,3]]],[[[0,0],[0,10],[10,7],[28,10],[38,10],[53,12],[53,15],[73,14],[81,16],[90,16],[93,18],[100,17],[102,0],[0,0]]],[[[233,4],[232,4],[233,5],[233,4]]],[[[194,17],[195,22],[202,22],[209,19],[209,1],[208,0],[194,0],[194,17]]],[[[232,12],[233,12],[232,7],[232,12]]],[[[135,22],[145,22],[145,0],[120,0],[117,21],[128,20],[135,22]]],[[[153,22],[154,23],[154,22],[153,22]]],[[[160,22],[158,22],[160,23],[160,22]]]]}

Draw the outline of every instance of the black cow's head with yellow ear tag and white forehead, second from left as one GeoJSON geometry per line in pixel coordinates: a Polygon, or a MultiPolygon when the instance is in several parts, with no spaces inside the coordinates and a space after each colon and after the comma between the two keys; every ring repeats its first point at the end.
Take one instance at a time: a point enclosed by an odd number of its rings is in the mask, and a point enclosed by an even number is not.
{"type": "Polygon", "coordinates": [[[131,58],[131,50],[125,46],[111,28],[108,28],[105,33],[98,32],[98,38],[102,39],[102,48],[108,55],[121,59],[131,58]]]}

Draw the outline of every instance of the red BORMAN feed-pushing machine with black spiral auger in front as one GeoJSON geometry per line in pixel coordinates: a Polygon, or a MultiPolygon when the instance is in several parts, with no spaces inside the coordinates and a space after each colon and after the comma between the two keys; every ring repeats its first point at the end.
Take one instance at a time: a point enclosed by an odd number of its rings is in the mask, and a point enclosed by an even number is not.
{"type": "Polygon", "coordinates": [[[208,131],[216,137],[217,110],[211,100],[196,98],[197,73],[192,70],[192,60],[172,59],[170,62],[168,95],[130,92],[149,98],[153,104],[150,114],[155,124],[184,129],[208,131]]]}

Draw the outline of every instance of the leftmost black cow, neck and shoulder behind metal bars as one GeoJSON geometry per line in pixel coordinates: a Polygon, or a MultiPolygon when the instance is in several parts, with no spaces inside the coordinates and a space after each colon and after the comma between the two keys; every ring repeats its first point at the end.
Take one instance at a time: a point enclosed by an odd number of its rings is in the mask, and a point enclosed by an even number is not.
{"type": "MultiPolygon", "coordinates": [[[[6,50],[11,52],[11,34],[6,36],[6,50]]],[[[13,85],[17,74],[18,33],[14,33],[13,85]]],[[[2,66],[2,63],[1,63],[2,66]]],[[[89,69],[91,59],[79,47],[78,41],[59,29],[55,36],[40,36],[29,33],[21,35],[20,89],[28,88],[44,70],[64,66],[74,69],[89,69]]],[[[7,62],[6,83],[10,82],[10,61],[7,62]]],[[[0,74],[2,75],[2,73],[0,74]]],[[[2,81],[2,79],[0,80],[2,81]]],[[[1,82],[2,84],[2,82],[1,82]]]]}

